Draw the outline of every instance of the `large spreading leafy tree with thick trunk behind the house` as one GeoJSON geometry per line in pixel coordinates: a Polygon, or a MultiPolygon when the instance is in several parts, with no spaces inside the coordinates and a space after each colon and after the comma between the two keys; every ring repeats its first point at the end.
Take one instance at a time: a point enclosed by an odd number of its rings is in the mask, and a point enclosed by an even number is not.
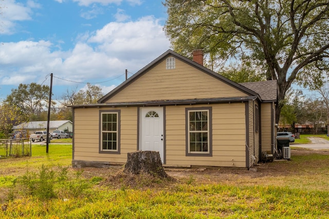
{"type": "Polygon", "coordinates": [[[203,48],[211,62],[247,59],[267,79],[278,80],[277,123],[291,84],[319,79],[329,68],[327,0],[166,0],[164,5],[165,31],[176,52],[190,56],[203,48]]]}

